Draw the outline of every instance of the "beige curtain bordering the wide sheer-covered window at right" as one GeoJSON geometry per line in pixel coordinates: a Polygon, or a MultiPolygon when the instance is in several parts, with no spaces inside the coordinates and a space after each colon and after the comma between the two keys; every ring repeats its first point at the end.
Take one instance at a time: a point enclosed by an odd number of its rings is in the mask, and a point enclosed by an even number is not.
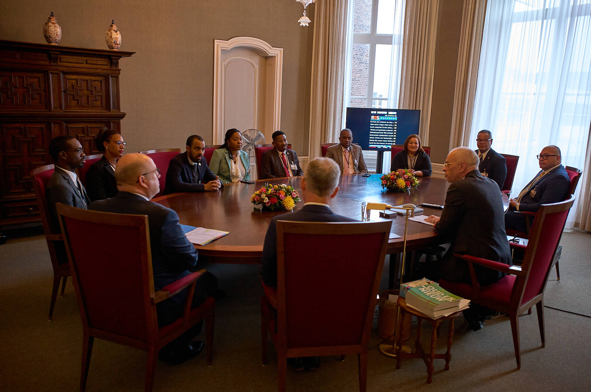
{"type": "Polygon", "coordinates": [[[449,149],[467,146],[478,79],[486,0],[464,0],[449,149]]]}

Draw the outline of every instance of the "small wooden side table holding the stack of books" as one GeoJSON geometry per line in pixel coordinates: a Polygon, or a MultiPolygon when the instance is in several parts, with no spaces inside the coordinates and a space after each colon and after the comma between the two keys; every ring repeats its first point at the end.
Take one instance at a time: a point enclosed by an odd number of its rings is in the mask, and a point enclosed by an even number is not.
{"type": "MultiPolygon", "coordinates": [[[[406,304],[406,300],[402,297],[398,297],[398,308],[400,309],[401,317],[408,313],[410,315],[415,316],[418,319],[417,322],[417,339],[414,342],[415,351],[410,353],[405,353],[401,351],[402,347],[402,333],[400,333],[400,338],[398,339],[398,349],[396,352],[396,368],[400,369],[400,363],[402,358],[423,358],[425,364],[427,365],[427,384],[431,384],[431,380],[433,378],[433,360],[441,359],[445,360],[445,370],[449,370],[449,362],[452,360],[452,339],[453,339],[453,319],[462,314],[461,311],[452,313],[447,317],[442,317],[439,319],[432,319],[427,315],[419,311],[415,311],[414,309],[410,308],[406,304]],[[431,349],[428,353],[426,353],[423,349],[423,344],[421,344],[421,332],[423,332],[423,320],[430,322],[431,327],[433,328],[433,333],[431,334],[431,349]],[[435,354],[435,344],[437,342],[437,328],[444,320],[449,320],[449,332],[447,332],[447,352],[445,354],[435,354]]],[[[402,332],[402,331],[401,331],[402,332]]]]}

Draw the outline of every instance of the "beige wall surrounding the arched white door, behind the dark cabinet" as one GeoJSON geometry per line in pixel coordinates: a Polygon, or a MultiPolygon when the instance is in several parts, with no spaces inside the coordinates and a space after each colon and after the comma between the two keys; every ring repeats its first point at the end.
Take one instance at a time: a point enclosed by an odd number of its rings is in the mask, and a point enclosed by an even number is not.
{"type": "MultiPolygon", "coordinates": [[[[311,6],[313,9],[313,6],[311,6]]],[[[309,139],[313,26],[287,0],[2,0],[0,39],[45,43],[51,11],[60,45],[105,48],[115,19],[122,34],[121,129],[126,151],[184,148],[187,136],[212,138],[213,40],[241,35],[284,48],[281,129],[301,155],[309,139]],[[305,141],[305,142],[304,142],[305,141]]]]}

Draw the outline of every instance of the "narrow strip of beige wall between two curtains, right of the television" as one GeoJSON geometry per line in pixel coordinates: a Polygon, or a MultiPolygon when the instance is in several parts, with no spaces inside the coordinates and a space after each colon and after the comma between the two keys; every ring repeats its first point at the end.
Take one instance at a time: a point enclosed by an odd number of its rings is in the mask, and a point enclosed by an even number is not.
{"type": "Polygon", "coordinates": [[[463,0],[441,0],[439,3],[428,143],[433,162],[445,162],[449,150],[462,8],[463,0]]]}

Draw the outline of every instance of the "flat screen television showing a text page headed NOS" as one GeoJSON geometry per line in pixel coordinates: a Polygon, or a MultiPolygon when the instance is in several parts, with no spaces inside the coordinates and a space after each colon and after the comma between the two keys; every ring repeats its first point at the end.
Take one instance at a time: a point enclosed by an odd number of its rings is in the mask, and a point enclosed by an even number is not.
{"type": "Polygon", "coordinates": [[[403,144],[408,135],[418,135],[420,110],[348,107],[346,127],[353,132],[353,143],[364,151],[390,151],[403,144]]]}

